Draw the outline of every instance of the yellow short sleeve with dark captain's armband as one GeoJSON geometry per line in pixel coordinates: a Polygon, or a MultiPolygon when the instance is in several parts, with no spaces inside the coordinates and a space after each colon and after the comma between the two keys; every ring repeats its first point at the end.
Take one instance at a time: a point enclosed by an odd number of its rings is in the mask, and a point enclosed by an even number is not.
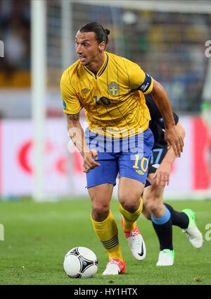
{"type": "Polygon", "coordinates": [[[153,90],[153,78],[145,73],[138,64],[130,62],[129,80],[132,89],[141,90],[143,94],[150,94],[153,90]]]}

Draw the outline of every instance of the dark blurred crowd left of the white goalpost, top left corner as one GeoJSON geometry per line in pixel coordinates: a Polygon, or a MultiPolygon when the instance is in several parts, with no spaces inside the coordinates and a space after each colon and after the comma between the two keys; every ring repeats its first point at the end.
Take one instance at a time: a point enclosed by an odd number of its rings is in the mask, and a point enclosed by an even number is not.
{"type": "Polygon", "coordinates": [[[4,42],[4,59],[0,69],[13,72],[30,69],[30,1],[0,1],[0,39],[4,42]]]}

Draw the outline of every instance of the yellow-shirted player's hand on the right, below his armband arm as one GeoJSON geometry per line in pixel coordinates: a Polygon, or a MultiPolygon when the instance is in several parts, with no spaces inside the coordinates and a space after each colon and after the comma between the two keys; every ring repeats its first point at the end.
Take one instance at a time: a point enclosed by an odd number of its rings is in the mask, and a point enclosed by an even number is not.
{"type": "Polygon", "coordinates": [[[167,141],[167,145],[169,147],[173,147],[175,156],[181,157],[181,152],[183,152],[184,147],[184,141],[175,126],[165,129],[165,139],[167,141]]]}

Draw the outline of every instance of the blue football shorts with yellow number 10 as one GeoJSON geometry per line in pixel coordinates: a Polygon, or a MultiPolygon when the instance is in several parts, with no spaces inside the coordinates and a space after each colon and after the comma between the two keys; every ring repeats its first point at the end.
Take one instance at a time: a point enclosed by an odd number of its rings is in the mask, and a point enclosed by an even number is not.
{"type": "Polygon", "coordinates": [[[101,164],[87,173],[87,188],[104,183],[115,185],[118,172],[120,178],[132,178],[146,183],[154,142],[150,128],[143,133],[120,139],[106,138],[87,129],[85,138],[89,148],[98,152],[96,161],[101,164]]]}

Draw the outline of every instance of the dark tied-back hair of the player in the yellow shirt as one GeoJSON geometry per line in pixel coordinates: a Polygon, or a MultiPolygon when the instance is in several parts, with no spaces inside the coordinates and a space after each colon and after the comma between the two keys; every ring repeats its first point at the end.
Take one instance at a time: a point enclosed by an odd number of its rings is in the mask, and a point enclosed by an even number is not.
{"type": "Polygon", "coordinates": [[[106,42],[106,44],[108,44],[110,30],[104,29],[100,23],[87,23],[79,29],[79,32],[94,32],[98,44],[101,44],[101,42],[106,42]]]}

